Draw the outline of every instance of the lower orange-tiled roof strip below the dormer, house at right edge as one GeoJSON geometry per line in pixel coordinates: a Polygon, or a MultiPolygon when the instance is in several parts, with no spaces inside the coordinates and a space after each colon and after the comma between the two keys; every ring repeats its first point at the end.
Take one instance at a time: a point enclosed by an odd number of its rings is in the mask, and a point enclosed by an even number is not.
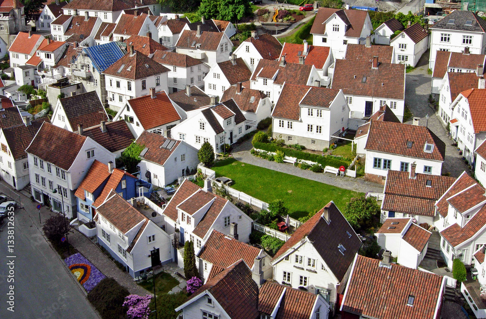
{"type": "Polygon", "coordinates": [[[445,230],[442,230],[440,234],[449,242],[449,244],[451,244],[452,247],[456,247],[457,245],[469,240],[485,225],[486,205],[484,205],[474,216],[472,216],[472,218],[463,228],[454,223],[445,230]]]}

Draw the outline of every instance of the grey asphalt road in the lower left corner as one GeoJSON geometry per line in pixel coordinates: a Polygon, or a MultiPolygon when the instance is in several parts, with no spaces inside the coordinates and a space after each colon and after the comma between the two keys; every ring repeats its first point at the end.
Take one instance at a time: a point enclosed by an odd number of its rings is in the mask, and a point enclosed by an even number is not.
{"type": "MultiPolygon", "coordinates": [[[[24,197],[25,198],[25,197],[24,197]]],[[[7,228],[0,232],[0,318],[1,319],[98,319],[97,312],[69,269],[52,250],[38,229],[34,204],[15,211],[14,253],[7,252],[7,228]],[[16,256],[7,258],[6,256],[16,256]],[[14,283],[7,283],[14,261],[14,283]],[[7,310],[9,285],[14,284],[15,312],[7,310]]]]}

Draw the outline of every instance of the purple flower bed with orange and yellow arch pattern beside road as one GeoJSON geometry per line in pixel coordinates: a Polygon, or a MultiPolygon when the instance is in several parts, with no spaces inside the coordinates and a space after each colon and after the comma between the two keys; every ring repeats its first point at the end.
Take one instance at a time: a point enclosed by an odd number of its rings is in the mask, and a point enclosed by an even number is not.
{"type": "Polygon", "coordinates": [[[89,262],[81,253],[70,255],[64,260],[87,292],[90,292],[106,276],[89,262]]]}

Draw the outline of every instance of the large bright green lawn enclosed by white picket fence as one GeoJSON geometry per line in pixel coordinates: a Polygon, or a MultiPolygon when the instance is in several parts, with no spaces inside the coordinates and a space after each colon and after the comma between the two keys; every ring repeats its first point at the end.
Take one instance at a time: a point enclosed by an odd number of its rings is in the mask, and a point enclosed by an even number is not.
{"type": "Polygon", "coordinates": [[[318,211],[331,200],[343,210],[351,197],[359,195],[353,191],[242,163],[235,159],[217,162],[211,169],[215,170],[218,176],[233,179],[235,183],[231,187],[250,196],[267,203],[282,199],[294,218],[318,211]]]}

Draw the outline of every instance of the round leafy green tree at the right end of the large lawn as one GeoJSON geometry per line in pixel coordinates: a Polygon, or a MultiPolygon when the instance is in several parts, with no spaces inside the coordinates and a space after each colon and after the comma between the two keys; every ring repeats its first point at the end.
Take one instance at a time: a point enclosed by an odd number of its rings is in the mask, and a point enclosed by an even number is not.
{"type": "Polygon", "coordinates": [[[380,215],[380,206],[373,197],[364,197],[364,195],[352,198],[346,204],[344,216],[354,230],[364,230],[373,226],[375,218],[380,215]]]}

